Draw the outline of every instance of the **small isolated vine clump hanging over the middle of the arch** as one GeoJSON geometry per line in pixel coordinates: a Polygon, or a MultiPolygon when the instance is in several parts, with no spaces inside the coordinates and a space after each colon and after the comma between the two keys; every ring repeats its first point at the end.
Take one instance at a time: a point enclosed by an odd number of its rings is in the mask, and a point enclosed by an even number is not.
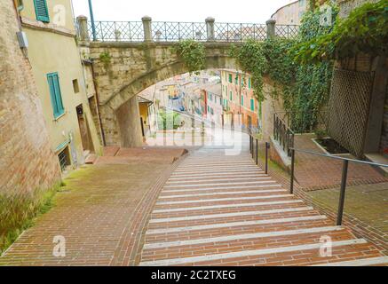
{"type": "Polygon", "coordinates": [[[175,46],[175,51],[178,57],[184,61],[190,73],[198,72],[205,68],[206,53],[203,43],[198,43],[194,40],[180,41],[175,46]]]}

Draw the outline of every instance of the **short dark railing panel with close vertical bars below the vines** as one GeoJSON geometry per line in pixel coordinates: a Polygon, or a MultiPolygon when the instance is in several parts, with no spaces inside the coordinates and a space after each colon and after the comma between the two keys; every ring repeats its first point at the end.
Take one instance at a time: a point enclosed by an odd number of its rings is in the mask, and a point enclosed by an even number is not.
{"type": "Polygon", "coordinates": [[[273,114],[273,138],[279,142],[283,151],[290,157],[290,148],[294,146],[295,132],[290,129],[289,122],[285,122],[280,114],[273,114]]]}

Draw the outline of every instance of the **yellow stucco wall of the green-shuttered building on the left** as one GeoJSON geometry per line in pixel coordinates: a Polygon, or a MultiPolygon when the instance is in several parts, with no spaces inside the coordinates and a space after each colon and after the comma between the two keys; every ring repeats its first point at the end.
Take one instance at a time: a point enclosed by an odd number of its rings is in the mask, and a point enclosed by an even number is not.
{"type": "MultiPolygon", "coordinates": [[[[54,15],[52,12],[55,4],[62,4],[68,10],[66,28],[74,29],[72,20],[70,0],[48,1],[50,20],[54,15]]],[[[22,17],[28,20],[36,20],[34,1],[26,0],[22,17]]],[[[50,23],[51,24],[51,23],[50,23]]],[[[44,118],[47,122],[53,150],[66,142],[69,134],[72,133],[73,151],[76,151],[77,162],[83,161],[83,144],[76,114],[76,106],[83,105],[83,112],[86,116],[91,139],[97,154],[101,153],[101,146],[86,95],[85,81],[83,77],[83,66],[80,53],[75,43],[75,36],[59,35],[51,29],[34,28],[23,25],[23,31],[28,37],[28,59],[31,63],[39,98],[41,99],[44,118]],[[59,86],[62,96],[65,114],[55,119],[51,105],[51,96],[47,74],[57,72],[59,75],[59,86]],[[73,80],[78,81],[79,92],[75,93],[73,80]]],[[[71,147],[71,146],[70,146],[71,147]]],[[[74,162],[74,161],[73,161],[74,162]]]]}

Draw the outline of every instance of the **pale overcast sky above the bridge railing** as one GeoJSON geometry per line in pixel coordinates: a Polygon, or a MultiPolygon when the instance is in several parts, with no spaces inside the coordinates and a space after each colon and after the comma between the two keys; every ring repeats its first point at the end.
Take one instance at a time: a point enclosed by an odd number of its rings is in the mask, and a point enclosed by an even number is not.
{"type": "MultiPolygon", "coordinates": [[[[141,20],[145,15],[162,21],[265,23],[273,12],[294,0],[92,0],[95,20],[141,20]]],[[[75,17],[89,18],[88,0],[73,0],[75,17]]]]}

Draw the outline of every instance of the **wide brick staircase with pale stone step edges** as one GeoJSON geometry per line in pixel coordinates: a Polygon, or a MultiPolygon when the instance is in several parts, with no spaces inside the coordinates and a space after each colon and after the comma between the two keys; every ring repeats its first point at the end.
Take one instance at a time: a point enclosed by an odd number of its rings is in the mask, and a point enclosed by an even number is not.
{"type": "Polygon", "coordinates": [[[139,265],[388,265],[388,256],[289,194],[249,153],[203,147],[164,185],[139,265]]]}

